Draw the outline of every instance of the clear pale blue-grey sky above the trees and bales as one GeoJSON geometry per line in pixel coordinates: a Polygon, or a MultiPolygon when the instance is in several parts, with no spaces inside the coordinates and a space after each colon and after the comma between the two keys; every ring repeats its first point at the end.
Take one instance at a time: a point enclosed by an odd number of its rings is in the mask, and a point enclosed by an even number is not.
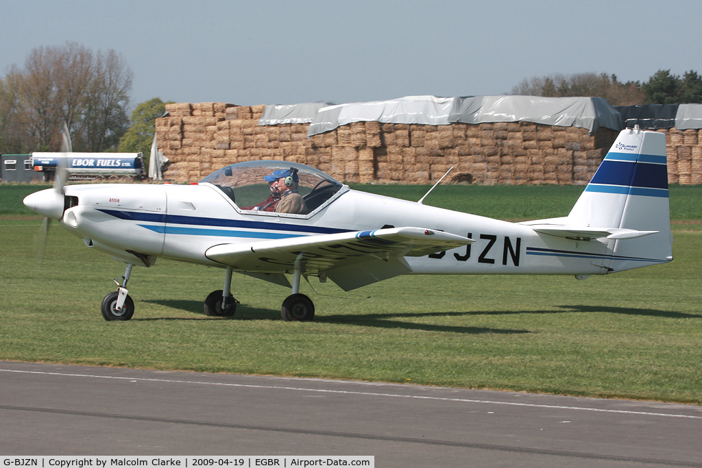
{"type": "Polygon", "coordinates": [[[702,2],[0,0],[0,75],[33,48],[114,49],[132,104],[496,95],[552,73],[702,72],[702,2]]]}

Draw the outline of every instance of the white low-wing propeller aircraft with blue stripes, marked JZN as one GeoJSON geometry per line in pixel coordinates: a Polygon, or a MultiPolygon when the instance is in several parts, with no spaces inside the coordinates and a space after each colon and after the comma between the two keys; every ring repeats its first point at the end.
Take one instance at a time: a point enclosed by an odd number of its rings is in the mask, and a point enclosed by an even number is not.
{"type": "Polygon", "coordinates": [[[619,134],[569,215],[517,223],[357,192],[285,161],[232,164],[194,185],[64,186],[65,177],[57,179],[24,203],[126,263],[117,291],[102,301],[106,320],[131,319],[132,267],[152,267],[159,257],[225,269],[223,289],[204,302],[209,316],[234,314],[233,272],[291,288],[286,321],[314,317],[312,300],[300,293],[308,276],[352,290],[401,274],[585,279],[673,260],[665,135],[638,128],[619,134]],[[263,206],[269,180],[298,185],[303,213],[263,206]]]}

